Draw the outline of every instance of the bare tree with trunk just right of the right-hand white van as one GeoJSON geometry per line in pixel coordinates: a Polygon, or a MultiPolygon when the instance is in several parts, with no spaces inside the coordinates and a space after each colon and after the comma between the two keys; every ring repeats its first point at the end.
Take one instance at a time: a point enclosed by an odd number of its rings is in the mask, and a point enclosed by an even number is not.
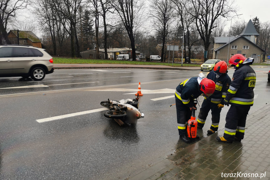
{"type": "Polygon", "coordinates": [[[164,59],[166,37],[170,33],[170,26],[174,18],[174,3],[171,0],[153,0],[150,4],[152,24],[162,40],[161,60],[164,59]]]}

